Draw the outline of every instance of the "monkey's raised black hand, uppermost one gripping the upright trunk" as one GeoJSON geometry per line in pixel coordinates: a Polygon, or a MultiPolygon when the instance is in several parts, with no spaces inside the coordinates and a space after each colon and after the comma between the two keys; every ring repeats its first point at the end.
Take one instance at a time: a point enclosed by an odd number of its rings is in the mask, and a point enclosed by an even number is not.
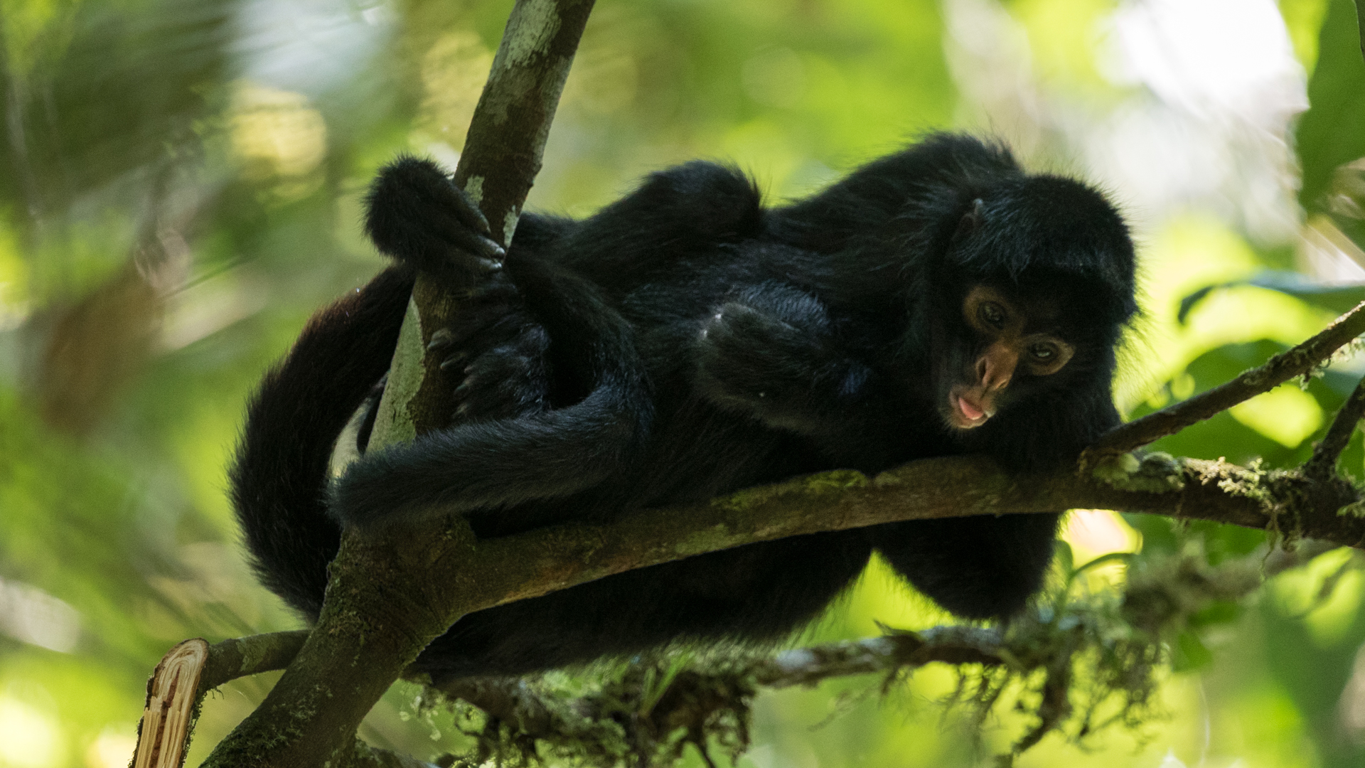
{"type": "Polygon", "coordinates": [[[416,157],[379,171],[366,198],[364,231],[385,254],[434,273],[483,275],[505,256],[474,198],[435,163],[416,157]]]}

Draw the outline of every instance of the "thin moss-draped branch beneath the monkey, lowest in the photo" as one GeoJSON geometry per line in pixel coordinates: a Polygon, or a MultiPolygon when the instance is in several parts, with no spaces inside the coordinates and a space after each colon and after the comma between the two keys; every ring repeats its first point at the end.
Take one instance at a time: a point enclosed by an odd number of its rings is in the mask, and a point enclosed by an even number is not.
{"type": "MultiPolygon", "coordinates": [[[[1137,727],[1152,715],[1168,642],[1213,603],[1239,601],[1265,577],[1306,563],[1319,544],[1259,548],[1211,566],[1198,547],[1132,564],[1123,586],[1092,593],[1067,581],[1009,627],[939,626],[890,630],[756,659],[643,657],[606,671],[599,686],[568,691],[545,681],[456,681],[442,693],[483,711],[461,711],[479,743],[461,765],[517,764],[556,756],[566,764],[670,763],[682,746],[748,746],[752,700],[763,687],[814,686],[831,678],[879,675],[885,691],[931,663],[958,675],[947,704],[980,723],[1002,696],[1032,724],[998,761],[1009,764],[1048,732],[1084,741],[1108,724],[1137,727]],[[1037,674],[1041,672],[1041,674],[1037,674]],[[1087,685],[1074,686],[1084,679],[1087,685]],[[472,726],[472,727],[471,727],[472,726]],[[606,757],[602,760],[601,757],[606,757]]],[[[1073,573],[1073,577],[1076,573],[1073,573]]],[[[874,689],[867,689],[870,693],[874,689]]]]}

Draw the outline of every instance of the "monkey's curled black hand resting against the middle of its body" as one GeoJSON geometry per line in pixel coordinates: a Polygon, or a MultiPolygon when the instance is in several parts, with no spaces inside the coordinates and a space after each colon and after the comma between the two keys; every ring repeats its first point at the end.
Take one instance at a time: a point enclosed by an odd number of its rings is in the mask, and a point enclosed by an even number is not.
{"type": "Polygon", "coordinates": [[[842,411],[871,372],[838,353],[823,309],[803,298],[773,310],[730,302],[708,318],[693,347],[702,395],[801,435],[846,426],[842,411]]]}

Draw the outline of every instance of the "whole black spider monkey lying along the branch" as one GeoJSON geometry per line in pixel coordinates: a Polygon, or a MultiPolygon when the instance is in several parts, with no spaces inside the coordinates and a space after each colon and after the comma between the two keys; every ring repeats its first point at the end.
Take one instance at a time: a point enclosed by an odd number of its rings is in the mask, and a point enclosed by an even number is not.
{"type": "MultiPolygon", "coordinates": [[[[733,168],[688,163],[580,221],[523,216],[493,272],[501,249],[472,204],[403,159],[375,180],[367,230],[399,264],[319,312],[266,374],[231,473],[257,573],[310,618],[340,523],[442,504],[504,536],[833,467],[986,452],[1028,471],[1118,424],[1127,228],[1093,189],[976,138],[931,135],[779,208],[733,168]],[[487,272],[434,339],[464,377],[455,424],[329,488],[415,268],[487,272]]],[[[781,640],[874,549],[949,611],[1009,618],[1041,584],[1058,518],[912,521],[640,568],[464,616],[416,666],[442,681],[781,640]]]]}

